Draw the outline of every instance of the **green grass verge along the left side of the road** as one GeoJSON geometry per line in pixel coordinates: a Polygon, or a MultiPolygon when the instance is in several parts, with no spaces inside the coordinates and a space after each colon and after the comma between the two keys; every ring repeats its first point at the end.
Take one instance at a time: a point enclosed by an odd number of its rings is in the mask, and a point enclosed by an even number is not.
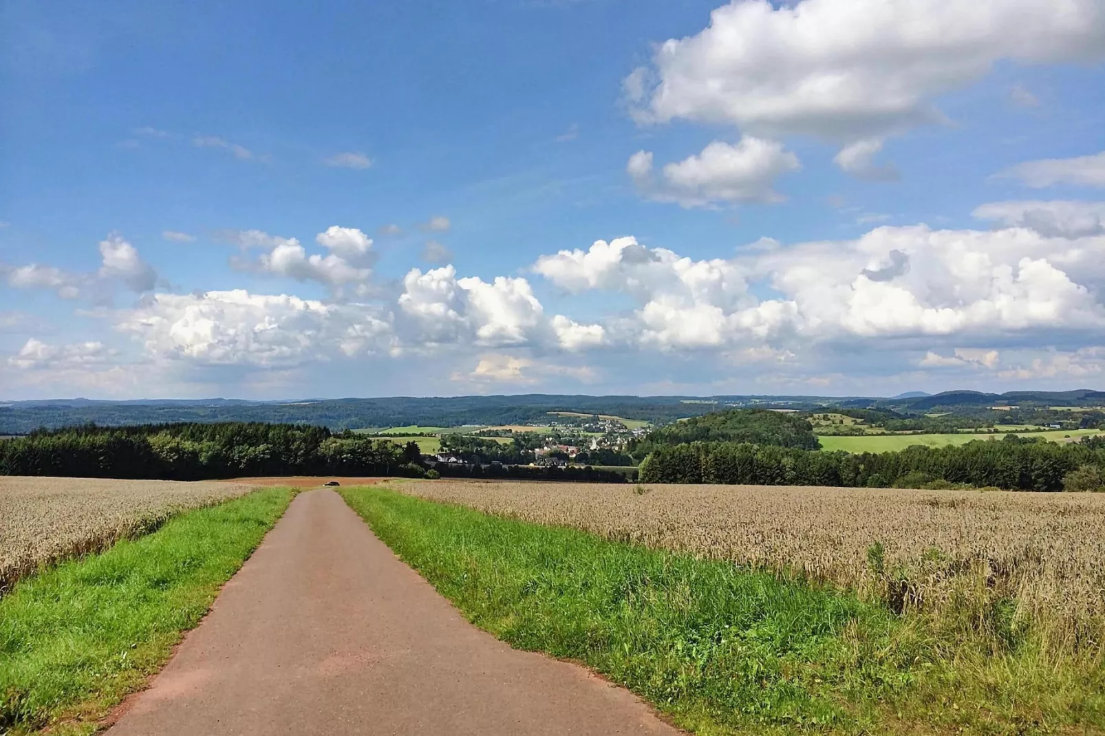
{"type": "Polygon", "coordinates": [[[0,734],[95,730],[166,662],[292,495],[269,488],[188,512],[19,582],[0,598],[0,734]]]}

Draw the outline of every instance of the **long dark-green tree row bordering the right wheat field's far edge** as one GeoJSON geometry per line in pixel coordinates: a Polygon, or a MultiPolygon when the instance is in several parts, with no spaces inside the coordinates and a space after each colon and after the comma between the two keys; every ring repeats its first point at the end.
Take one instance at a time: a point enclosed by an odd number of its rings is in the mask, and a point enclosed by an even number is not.
{"type": "Polygon", "coordinates": [[[640,469],[645,483],[916,486],[939,481],[1013,491],[1062,491],[1070,474],[1105,472],[1105,446],[1059,444],[1013,435],[958,446],[899,452],[810,452],[734,442],[656,448],[640,469]]]}

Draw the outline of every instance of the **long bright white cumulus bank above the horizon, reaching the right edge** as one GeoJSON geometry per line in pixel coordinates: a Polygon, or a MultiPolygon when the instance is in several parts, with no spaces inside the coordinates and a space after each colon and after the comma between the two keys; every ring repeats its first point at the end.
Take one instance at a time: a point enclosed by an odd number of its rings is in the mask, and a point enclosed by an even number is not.
{"type": "Polygon", "coordinates": [[[1105,329],[1105,238],[1023,228],[887,227],[702,261],[620,238],[543,256],[534,271],[569,292],[630,294],[632,318],[609,332],[665,350],[951,336],[969,348],[1105,329]]]}

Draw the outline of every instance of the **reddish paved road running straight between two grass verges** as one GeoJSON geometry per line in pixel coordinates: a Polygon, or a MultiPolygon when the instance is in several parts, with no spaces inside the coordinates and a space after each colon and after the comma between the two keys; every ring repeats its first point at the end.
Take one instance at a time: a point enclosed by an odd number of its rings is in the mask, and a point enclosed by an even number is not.
{"type": "Polygon", "coordinates": [[[666,734],[628,691],[511,649],[309,491],[112,736],[666,734]]]}

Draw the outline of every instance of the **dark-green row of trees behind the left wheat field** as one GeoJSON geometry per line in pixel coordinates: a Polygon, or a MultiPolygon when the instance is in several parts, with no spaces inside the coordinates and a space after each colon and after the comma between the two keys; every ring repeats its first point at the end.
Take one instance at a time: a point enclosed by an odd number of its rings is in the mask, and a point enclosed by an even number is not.
{"type": "Polygon", "coordinates": [[[420,475],[400,445],[325,427],[224,422],[85,425],[0,442],[0,474],[197,481],[250,475],[420,475]]]}

